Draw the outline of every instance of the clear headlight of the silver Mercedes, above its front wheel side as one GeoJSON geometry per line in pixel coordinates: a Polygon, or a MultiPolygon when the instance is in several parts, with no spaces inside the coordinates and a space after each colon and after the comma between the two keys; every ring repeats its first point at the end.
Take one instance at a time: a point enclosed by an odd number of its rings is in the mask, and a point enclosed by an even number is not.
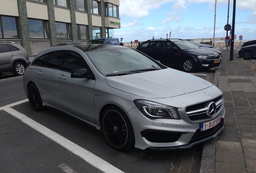
{"type": "Polygon", "coordinates": [[[133,103],[149,119],[180,119],[177,108],[146,100],[134,100],[133,103]]]}

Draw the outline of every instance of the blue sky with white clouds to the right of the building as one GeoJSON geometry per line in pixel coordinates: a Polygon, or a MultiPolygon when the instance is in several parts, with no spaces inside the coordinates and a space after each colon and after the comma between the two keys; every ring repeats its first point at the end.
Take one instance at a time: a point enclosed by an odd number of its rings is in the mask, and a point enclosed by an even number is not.
{"type": "MultiPolygon", "coordinates": [[[[215,38],[225,37],[229,0],[217,0],[215,38]]],[[[213,38],[215,0],[120,0],[121,28],[114,30],[123,42],[155,38],[213,38]]],[[[233,0],[229,3],[232,26],[233,0]]],[[[229,32],[228,32],[229,34],[229,32]]],[[[237,40],[256,40],[256,0],[236,0],[237,40]]]]}

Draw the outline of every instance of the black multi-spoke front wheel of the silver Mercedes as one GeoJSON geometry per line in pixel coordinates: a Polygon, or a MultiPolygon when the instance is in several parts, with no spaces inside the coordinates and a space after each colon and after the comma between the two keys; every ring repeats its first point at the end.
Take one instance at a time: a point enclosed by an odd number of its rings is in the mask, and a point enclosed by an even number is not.
{"type": "Polygon", "coordinates": [[[126,151],[134,147],[135,138],[132,124],[122,109],[111,106],[104,111],[102,130],[112,148],[126,151]]]}

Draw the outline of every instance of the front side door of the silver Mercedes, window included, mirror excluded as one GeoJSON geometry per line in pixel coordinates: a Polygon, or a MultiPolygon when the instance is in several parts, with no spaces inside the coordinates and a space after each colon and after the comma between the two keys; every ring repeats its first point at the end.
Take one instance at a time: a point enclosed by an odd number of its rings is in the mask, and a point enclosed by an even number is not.
{"type": "Polygon", "coordinates": [[[94,120],[94,84],[89,78],[71,78],[72,70],[89,67],[77,52],[66,51],[57,74],[59,103],[62,110],[91,123],[94,120]]]}

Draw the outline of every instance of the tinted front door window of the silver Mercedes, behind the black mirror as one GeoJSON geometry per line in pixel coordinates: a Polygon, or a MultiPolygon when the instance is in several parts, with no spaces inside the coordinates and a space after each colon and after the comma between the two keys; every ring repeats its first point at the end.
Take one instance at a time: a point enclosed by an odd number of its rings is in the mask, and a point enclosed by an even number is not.
{"type": "Polygon", "coordinates": [[[76,52],[66,52],[63,60],[62,69],[71,72],[81,68],[88,68],[87,63],[83,57],[76,52]]]}

